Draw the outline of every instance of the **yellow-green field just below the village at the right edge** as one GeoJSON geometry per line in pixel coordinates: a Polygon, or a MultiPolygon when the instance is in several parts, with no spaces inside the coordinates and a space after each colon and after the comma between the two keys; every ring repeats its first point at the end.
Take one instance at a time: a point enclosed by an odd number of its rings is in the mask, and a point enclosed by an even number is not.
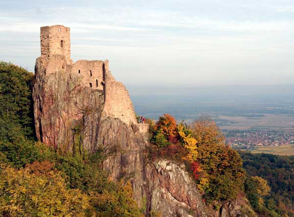
{"type": "Polygon", "coordinates": [[[252,150],[251,153],[270,153],[275,155],[291,156],[294,155],[294,145],[256,147],[256,149],[252,150]]]}

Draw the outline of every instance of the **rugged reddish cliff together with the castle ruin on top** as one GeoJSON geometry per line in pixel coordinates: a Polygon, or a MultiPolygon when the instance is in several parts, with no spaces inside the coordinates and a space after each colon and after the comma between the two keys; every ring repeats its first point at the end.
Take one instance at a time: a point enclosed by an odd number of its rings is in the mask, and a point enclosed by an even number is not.
{"type": "Polygon", "coordinates": [[[70,29],[41,27],[41,57],[33,88],[36,135],[55,149],[108,156],[103,169],[113,179],[129,177],[134,198],[162,217],[245,217],[233,203],[212,211],[183,165],[148,159],[148,125],[137,124],[130,97],[108,61],[70,59],[70,29]],[[237,211],[235,212],[234,210],[237,211]]]}

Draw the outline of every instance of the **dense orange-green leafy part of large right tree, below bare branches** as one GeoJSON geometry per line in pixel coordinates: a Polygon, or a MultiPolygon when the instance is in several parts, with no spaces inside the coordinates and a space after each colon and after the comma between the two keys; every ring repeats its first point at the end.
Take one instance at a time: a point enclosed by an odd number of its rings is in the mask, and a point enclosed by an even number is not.
{"type": "Polygon", "coordinates": [[[207,202],[232,200],[243,190],[245,171],[235,150],[223,144],[206,143],[198,147],[198,162],[208,179],[203,187],[207,202]]]}

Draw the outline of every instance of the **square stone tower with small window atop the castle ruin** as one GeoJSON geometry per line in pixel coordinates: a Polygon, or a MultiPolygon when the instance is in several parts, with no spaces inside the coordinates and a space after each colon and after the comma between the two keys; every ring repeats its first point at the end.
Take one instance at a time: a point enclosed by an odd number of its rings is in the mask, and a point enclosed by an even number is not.
{"type": "Polygon", "coordinates": [[[41,27],[41,59],[49,60],[52,55],[63,55],[67,64],[71,63],[70,28],[63,25],[41,27]]]}

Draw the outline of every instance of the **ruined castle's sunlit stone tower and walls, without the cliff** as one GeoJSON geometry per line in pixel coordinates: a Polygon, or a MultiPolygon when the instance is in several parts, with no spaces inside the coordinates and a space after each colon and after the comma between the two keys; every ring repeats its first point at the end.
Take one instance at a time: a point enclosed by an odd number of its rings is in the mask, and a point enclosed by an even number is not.
{"type": "Polygon", "coordinates": [[[70,28],[63,25],[41,27],[41,64],[47,66],[46,74],[64,70],[81,77],[83,86],[103,91],[105,116],[120,118],[129,125],[136,124],[129,94],[124,85],[111,75],[107,60],[79,60],[73,63],[70,28]]]}

